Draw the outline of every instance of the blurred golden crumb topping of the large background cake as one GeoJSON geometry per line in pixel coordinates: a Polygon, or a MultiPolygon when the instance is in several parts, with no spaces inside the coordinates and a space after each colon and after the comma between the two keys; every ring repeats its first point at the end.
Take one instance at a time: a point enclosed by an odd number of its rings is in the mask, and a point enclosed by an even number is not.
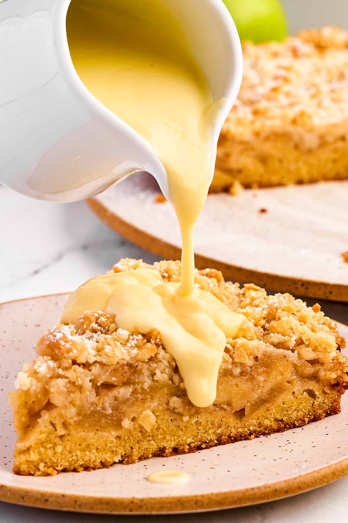
{"type": "Polygon", "coordinates": [[[348,33],[323,27],[284,42],[245,42],[243,56],[241,90],[220,146],[234,137],[243,142],[279,132],[279,124],[304,149],[339,137],[338,124],[348,117],[348,33]],[[321,132],[313,133],[318,126],[321,132]]]}

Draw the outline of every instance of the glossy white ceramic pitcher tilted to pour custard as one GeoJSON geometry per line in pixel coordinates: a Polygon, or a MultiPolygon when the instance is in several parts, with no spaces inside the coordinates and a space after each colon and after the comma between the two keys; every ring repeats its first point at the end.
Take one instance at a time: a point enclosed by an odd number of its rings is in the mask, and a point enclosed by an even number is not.
{"type": "MultiPolygon", "coordinates": [[[[225,99],[213,130],[215,158],[242,79],[237,29],[222,0],[162,1],[181,22],[214,99],[225,99]]],[[[68,202],[144,170],[170,199],[151,145],[77,76],[65,26],[70,2],[0,0],[0,182],[27,196],[68,202]]]]}

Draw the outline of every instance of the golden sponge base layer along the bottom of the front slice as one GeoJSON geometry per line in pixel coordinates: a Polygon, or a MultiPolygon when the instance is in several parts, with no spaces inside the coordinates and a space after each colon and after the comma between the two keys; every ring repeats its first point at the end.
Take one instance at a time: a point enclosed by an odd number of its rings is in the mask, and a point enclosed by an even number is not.
{"type": "Polygon", "coordinates": [[[49,425],[38,430],[32,444],[17,442],[14,472],[54,475],[60,471],[92,470],[116,462],[135,463],[154,456],[173,456],[253,439],[338,414],[340,397],[334,387],[323,395],[308,390],[253,416],[226,413],[214,405],[209,412],[202,411],[197,420],[197,416],[189,416],[186,421],[181,415],[163,410],[156,415],[156,425],[151,431],[134,424],[121,435],[112,427],[103,430],[101,424],[95,429],[74,426],[59,436],[49,425]]]}

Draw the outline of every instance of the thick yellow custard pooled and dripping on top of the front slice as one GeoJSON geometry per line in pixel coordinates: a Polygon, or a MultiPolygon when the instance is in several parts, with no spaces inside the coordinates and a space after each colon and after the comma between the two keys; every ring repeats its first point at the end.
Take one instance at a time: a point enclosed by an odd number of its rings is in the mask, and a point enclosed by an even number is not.
{"type": "Polygon", "coordinates": [[[74,323],[85,311],[115,314],[126,331],[161,333],[173,356],[187,395],[198,407],[216,398],[216,383],[226,346],[244,319],[202,289],[183,296],[179,283],[164,283],[153,269],[102,274],[86,281],[64,306],[62,323],[74,323]]]}

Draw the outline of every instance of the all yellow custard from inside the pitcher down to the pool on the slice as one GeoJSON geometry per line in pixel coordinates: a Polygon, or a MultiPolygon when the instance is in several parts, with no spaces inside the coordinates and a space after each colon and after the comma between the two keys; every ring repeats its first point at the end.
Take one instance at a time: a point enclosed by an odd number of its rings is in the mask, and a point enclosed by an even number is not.
{"type": "Polygon", "coordinates": [[[163,282],[151,269],[97,276],[72,294],[61,321],[101,310],[115,314],[127,331],[157,329],[189,399],[206,407],[216,397],[226,336],[237,336],[243,321],[195,288],[194,228],[215,162],[211,132],[219,102],[213,103],[181,27],[160,0],[72,0],[66,27],[82,82],[165,166],[182,236],[182,276],[180,284],[163,282]]]}

